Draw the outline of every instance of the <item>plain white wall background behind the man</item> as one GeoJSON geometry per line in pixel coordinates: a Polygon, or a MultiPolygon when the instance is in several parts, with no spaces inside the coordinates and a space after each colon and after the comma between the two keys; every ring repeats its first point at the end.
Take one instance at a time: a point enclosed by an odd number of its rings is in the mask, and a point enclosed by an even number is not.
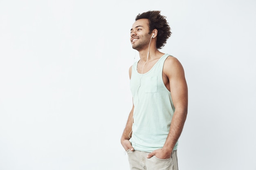
{"type": "Polygon", "coordinates": [[[129,170],[130,28],[160,10],[184,66],[180,170],[256,170],[256,1],[0,0],[0,170],[129,170]]]}

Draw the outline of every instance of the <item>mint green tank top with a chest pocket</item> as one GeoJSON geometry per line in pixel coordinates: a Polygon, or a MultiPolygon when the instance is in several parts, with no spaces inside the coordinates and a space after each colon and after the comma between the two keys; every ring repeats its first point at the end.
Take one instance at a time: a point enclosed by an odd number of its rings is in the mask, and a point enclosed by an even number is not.
{"type": "MultiPolygon", "coordinates": [[[[132,137],[135,150],[152,152],[164,146],[170,130],[175,108],[171,93],[164,85],[162,71],[164,61],[170,56],[163,55],[147,73],[137,72],[137,62],[132,66],[130,90],[133,97],[132,137]]],[[[177,149],[178,141],[173,148],[177,149]]]]}

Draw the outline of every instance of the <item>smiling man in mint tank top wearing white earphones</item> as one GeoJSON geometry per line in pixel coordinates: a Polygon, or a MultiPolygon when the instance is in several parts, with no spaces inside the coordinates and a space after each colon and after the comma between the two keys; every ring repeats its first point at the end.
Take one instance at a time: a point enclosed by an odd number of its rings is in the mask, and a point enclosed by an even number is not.
{"type": "Polygon", "coordinates": [[[162,49],[171,29],[160,11],[137,15],[130,31],[140,60],[129,69],[133,106],[121,144],[131,170],[177,170],[177,145],[188,106],[184,69],[162,49]]]}

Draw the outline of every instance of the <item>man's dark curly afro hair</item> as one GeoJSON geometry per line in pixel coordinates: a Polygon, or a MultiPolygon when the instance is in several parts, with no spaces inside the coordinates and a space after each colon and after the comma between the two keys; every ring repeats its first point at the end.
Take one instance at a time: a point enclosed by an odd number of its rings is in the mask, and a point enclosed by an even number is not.
{"type": "Polygon", "coordinates": [[[149,33],[152,33],[154,29],[157,29],[157,49],[162,49],[166,44],[167,39],[171,36],[171,28],[166,21],[166,17],[160,15],[161,11],[147,11],[139,13],[135,18],[135,21],[139,19],[148,19],[149,33]]]}

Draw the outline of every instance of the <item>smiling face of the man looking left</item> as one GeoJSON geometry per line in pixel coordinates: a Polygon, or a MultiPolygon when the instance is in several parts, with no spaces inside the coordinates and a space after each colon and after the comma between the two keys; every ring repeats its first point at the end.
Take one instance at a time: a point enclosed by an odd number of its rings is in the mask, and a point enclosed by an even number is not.
{"type": "Polygon", "coordinates": [[[137,51],[147,49],[151,36],[152,35],[149,34],[148,19],[135,21],[130,33],[132,48],[137,51]]]}

